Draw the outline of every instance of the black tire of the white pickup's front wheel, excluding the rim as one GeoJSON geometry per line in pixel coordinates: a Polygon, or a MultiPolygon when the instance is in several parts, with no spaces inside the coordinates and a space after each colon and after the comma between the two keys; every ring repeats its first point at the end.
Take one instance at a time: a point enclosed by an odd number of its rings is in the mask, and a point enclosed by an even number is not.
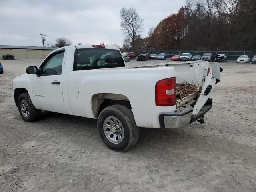
{"type": "Polygon", "coordinates": [[[34,122],[38,120],[41,113],[41,110],[38,110],[34,107],[28,93],[20,94],[18,98],[18,110],[20,112],[21,118],[26,122],[34,122]],[[26,103],[28,104],[28,116],[25,116],[22,112],[22,102],[24,101],[26,101],[26,103]]]}

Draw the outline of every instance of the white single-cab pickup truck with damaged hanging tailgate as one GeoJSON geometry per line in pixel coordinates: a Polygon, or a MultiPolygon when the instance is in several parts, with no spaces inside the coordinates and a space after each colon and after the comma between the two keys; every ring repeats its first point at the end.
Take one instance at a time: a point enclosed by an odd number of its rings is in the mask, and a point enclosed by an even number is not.
{"type": "Polygon", "coordinates": [[[139,127],[180,128],[203,123],[220,66],[206,61],[164,62],[129,67],[120,50],[104,45],[71,45],[51,52],[13,80],[13,98],[22,119],[41,110],[98,119],[98,132],[111,149],[134,146],[139,127]],[[198,90],[176,99],[176,82],[198,90]]]}

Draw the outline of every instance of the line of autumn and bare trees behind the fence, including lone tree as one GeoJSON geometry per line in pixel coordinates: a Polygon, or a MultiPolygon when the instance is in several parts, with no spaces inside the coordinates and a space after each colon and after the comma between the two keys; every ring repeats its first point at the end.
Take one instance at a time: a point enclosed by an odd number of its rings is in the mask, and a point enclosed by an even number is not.
{"type": "Polygon", "coordinates": [[[256,0],[186,0],[178,13],[150,28],[146,38],[140,37],[143,20],[134,12],[120,10],[125,50],[149,45],[157,50],[256,49],[256,0]]]}

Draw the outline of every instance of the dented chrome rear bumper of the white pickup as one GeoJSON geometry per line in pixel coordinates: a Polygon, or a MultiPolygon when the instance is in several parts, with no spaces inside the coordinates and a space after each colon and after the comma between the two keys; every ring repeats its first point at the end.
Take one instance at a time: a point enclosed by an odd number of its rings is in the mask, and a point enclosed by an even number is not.
{"type": "Polygon", "coordinates": [[[159,122],[161,128],[180,128],[202,118],[212,108],[212,98],[209,98],[200,112],[192,118],[194,104],[196,104],[195,100],[188,103],[186,107],[177,109],[172,114],[160,114],[159,122]]]}

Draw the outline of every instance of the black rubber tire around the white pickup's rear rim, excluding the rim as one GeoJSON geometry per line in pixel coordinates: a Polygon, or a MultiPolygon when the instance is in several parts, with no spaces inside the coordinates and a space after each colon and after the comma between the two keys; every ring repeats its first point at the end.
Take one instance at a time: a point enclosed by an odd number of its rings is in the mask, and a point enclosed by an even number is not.
{"type": "MultiPolygon", "coordinates": [[[[109,122],[105,123],[108,124],[109,122]]],[[[108,146],[112,150],[117,150],[120,152],[127,151],[130,148],[132,148],[138,141],[140,129],[136,126],[132,111],[128,109],[126,106],[112,105],[104,108],[104,110],[100,112],[97,124],[98,132],[100,134],[102,141],[106,144],[106,146],[108,146]],[[108,120],[108,118],[111,117],[117,118],[120,121],[118,123],[121,123],[120,127],[123,128],[124,134],[122,141],[120,143],[111,142],[105,134],[106,130],[109,128],[104,130],[104,121],[108,120]]],[[[121,128],[120,130],[122,130],[121,128]]],[[[111,129],[109,129],[109,131],[111,131],[111,129]]],[[[114,137],[116,137],[116,135],[114,135],[114,137]]]]}

